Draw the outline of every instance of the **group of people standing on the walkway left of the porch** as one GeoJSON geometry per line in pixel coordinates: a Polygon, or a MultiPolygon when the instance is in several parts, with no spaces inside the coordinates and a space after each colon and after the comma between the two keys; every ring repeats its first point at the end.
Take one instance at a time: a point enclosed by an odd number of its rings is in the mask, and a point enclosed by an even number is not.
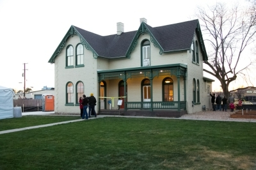
{"type": "Polygon", "coordinates": [[[83,97],[79,98],[79,107],[80,107],[80,116],[84,120],[88,120],[88,118],[91,118],[91,115],[94,115],[94,117],[97,117],[97,114],[95,112],[95,105],[97,103],[96,98],[93,96],[93,93],[91,93],[90,97],[86,97],[86,95],[83,95],[83,97]],[[87,108],[89,108],[89,111],[87,112],[87,108]]]}

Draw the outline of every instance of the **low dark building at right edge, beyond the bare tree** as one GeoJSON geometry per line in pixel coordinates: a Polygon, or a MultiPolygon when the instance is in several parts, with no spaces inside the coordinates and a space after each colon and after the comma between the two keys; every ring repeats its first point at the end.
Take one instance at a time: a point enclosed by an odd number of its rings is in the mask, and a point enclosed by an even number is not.
{"type": "Polygon", "coordinates": [[[230,94],[234,95],[237,100],[239,98],[243,98],[249,102],[256,102],[256,88],[238,89],[236,91],[232,91],[230,94]]]}

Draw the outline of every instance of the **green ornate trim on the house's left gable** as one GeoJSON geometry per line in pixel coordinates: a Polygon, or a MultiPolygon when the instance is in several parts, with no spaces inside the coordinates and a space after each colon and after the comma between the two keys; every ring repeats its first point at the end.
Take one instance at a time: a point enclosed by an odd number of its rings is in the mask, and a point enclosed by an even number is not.
{"type": "Polygon", "coordinates": [[[87,50],[91,50],[93,52],[93,58],[95,58],[95,59],[98,58],[99,55],[97,54],[97,52],[95,52],[95,50],[93,50],[93,48],[90,46],[90,44],[88,42],[86,42],[86,40],[83,38],[83,36],[81,36],[81,34],[76,30],[76,28],[74,26],[71,26],[70,29],[68,29],[68,32],[66,33],[64,38],[61,40],[60,45],[58,45],[58,48],[52,54],[52,56],[49,59],[48,63],[54,63],[54,59],[60,54],[60,52],[63,49],[63,47],[65,47],[68,38],[70,36],[73,37],[73,35],[79,36],[80,42],[84,45],[84,47],[87,50]]]}

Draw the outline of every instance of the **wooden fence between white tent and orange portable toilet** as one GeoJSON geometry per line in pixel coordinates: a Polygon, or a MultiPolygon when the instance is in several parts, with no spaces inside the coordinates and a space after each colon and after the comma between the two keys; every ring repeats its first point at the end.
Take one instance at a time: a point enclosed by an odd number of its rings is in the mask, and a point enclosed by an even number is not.
{"type": "Polygon", "coordinates": [[[13,107],[38,107],[42,106],[42,99],[14,99],[13,107]]]}

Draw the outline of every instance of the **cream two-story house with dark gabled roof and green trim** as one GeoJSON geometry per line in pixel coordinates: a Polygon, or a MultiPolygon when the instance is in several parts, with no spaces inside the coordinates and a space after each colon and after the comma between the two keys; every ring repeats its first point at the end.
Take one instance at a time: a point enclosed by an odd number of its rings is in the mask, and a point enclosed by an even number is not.
{"type": "MultiPolygon", "coordinates": [[[[71,26],[49,63],[54,63],[55,108],[79,112],[83,94],[97,98],[97,113],[122,100],[124,114],[173,116],[211,107],[212,79],[203,75],[207,54],[198,20],[100,36],[71,26]],[[118,98],[114,98],[118,97],[118,98]],[[125,98],[123,98],[125,97],[125,98]]],[[[113,108],[114,108],[113,107],[113,108]]]]}

